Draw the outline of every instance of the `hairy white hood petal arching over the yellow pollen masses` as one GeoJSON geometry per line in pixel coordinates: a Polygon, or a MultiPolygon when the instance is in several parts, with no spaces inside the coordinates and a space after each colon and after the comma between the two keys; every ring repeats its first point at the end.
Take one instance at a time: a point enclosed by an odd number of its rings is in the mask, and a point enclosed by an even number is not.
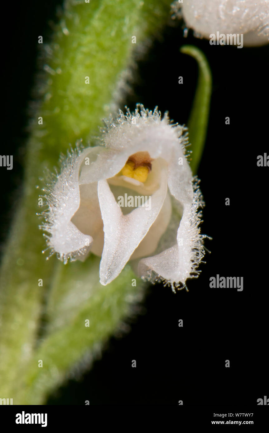
{"type": "MultiPolygon", "coordinates": [[[[167,116],[161,120],[157,112],[155,117],[137,117],[135,125],[129,118],[128,120],[125,119],[116,128],[114,124],[110,126],[109,132],[102,138],[104,147],[93,148],[96,151],[90,165],[81,166],[80,184],[113,178],[129,156],[136,152],[146,151],[153,159],[162,158],[166,162],[171,160],[172,148],[178,147],[178,137],[183,128],[172,128],[167,116]]],[[[87,149],[84,152],[86,151],[87,149]]]]}

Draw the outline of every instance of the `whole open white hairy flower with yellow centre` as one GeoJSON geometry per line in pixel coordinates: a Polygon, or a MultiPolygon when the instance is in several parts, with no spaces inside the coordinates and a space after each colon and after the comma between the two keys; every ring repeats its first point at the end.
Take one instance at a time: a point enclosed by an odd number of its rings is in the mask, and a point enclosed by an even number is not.
{"type": "Polygon", "coordinates": [[[131,261],[145,280],[185,287],[204,256],[186,143],[186,128],[157,107],[120,111],[102,145],[69,155],[51,188],[42,228],[52,252],[64,263],[99,255],[103,285],[131,261]]]}

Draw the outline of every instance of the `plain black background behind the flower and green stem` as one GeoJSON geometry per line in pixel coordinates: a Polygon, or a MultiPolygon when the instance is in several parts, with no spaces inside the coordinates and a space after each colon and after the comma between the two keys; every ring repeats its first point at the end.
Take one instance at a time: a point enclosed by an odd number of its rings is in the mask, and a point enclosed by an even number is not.
{"type": "MultiPolygon", "coordinates": [[[[13,154],[13,170],[1,168],[1,242],[16,211],[23,177],[27,107],[36,71],[39,35],[49,35],[54,1],[11,3],[2,27],[3,126],[1,154],[13,154]],[[6,150],[8,149],[8,151],[6,150]]],[[[182,23],[156,35],[139,61],[133,94],[146,108],[168,110],[178,123],[188,122],[197,80],[196,62],[179,53],[198,46],[207,56],[213,93],[207,140],[198,176],[206,207],[202,233],[211,254],[200,277],[173,294],[150,286],[144,314],[131,332],[112,338],[102,359],[81,381],[68,381],[48,404],[255,404],[269,397],[268,355],[268,167],[257,155],[269,154],[269,47],[238,49],[211,46],[182,37],[182,23]],[[178,84],[178,77],[183,84],[178,84]],[[225,125],[225,117],[230,125],[225,125]],[[230,206],[225,206],[225,198],[230,206]],[[243,291],[211,289],[211,276],[243,277],[243,291]],[[178,320],[183,319],[183,327],[178,320]],[[136,368],[131,361],[136,359],[136,368]],[[225,368],[225,360],[230,368],[225,368]],[[266,368],[267,367],[267,368],[266,368]]],[[[123,105],[124,105],[123,104],[123,105]]]]}

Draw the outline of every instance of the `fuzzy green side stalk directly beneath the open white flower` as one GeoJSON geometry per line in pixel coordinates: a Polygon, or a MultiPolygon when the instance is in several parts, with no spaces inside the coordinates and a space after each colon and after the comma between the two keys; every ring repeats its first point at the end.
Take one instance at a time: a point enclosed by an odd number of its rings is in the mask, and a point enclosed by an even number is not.
{"type": "MultiPolygon", "coordinates": [[[[97,278],[97,257],[91,259],[90,264],[83,264],[82,268],[80,265],[79,281],[76,281],[74,275],[78,275],[78,272],[76,269],[72,270],[72,264],[65,272],[66,281],[71,279],[71,284],[74,285],[73,295],[69,300],[65,298],[64,302],[69,302],[71,307],[71,302],[76,301],[84,288],[81,306],[75,313],[72,309],[62,307],[65,317],[60,313],[58,319],[65,320],[59,323],[55,330],[50,330],[49,335],[34,352],[17,394],[16,404],[43,404],[49,392],[68,377],[72,365],[77,365],[80,373],[88,368],[96,355],[100,354],[103,343],[107,341],[112,330],[115,333],[116,330],[126,328],[126,317],[134,313],[134,304],[138,303],[143,295],[141,285],[135,287],[134,291],[132,280],[135,277],[129,266],[112,283],[102,286],[95,281],[93,284],[88,281],[90,284],[87,284],[89,275],[97,278]]],[[[55,312],[59,307],[56,306],[55,312]]]]}

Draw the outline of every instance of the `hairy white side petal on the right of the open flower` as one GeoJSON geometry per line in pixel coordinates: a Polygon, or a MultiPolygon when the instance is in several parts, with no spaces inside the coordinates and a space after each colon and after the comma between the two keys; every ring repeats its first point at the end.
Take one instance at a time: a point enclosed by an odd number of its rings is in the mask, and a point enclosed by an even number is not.
{"type": "Polygon", "coordinates": [[[177,244],[166,249],[160,254],[141,260],[139,272],[144,278],[162,279],[176,287],[185,284],[187,278],[197,267],[197,250],[199,250],[199,262],[204,255],[200,229],[200,220],[197,215],[201,200],[200,195],[193,189],[191,169],[186,161],[180,146],[171,151],[171,161],[168,165],[168,186],[170,193],[183,206],[183,215],[178,227],[177,244]],[[178,163],[180,162],[180,164],[178,163]],[[150,270],[150,271],[149,271],[150,270]]]}

